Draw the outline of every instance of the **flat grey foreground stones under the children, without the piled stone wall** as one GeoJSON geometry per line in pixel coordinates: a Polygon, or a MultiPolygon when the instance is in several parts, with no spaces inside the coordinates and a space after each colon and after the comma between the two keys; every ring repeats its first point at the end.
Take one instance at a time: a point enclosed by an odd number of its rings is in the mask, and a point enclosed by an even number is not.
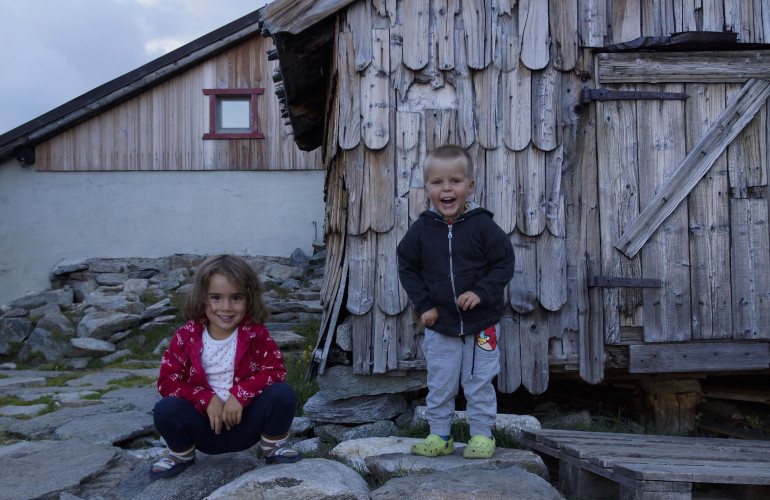
{"type": "MultiPolygon", "coordinates": [[[[199,453],[197,463],[179,476],[152,481],[148,468],[164,449],[151,416],[159,396],[152,383],[116,387],[121,381],[151,379],[157,367],[108,369],[60,386],[44,384],[61,372],[2,374],[0,394],[33,398],[55,393],[59,402],[52,413],[0,417],[3,499],[561,498],[548,483],[541,459],[528,451],[498,448],[493,459],[469,463],[459,444],[451,456],[426,459],[408,453],[415,438],[383,436],[390,430],[387,425],[319,424],[308,417],[297,418],[292,426],[296,445],[307,456],[296,464],[265,466],[252,450],[199,453]],[[335,442],[330,433],[344,440],[328,450],[335,442]]],[[[501,425],[512,434],[539,426],[531,417],[500,418],[506,420],[501,425]]]]}

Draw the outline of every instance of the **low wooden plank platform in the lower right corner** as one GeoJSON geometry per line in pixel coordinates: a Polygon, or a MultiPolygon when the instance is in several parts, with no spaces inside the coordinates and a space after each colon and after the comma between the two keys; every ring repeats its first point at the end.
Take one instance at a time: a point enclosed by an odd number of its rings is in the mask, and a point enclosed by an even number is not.
{"type": "Polygon", "coordinates": [[[568,498],[770,498],[770,441],[540,429],[523,431],[521,447],[568,498]],[[730,493],[693,493],[696,483],[730,493]]]}

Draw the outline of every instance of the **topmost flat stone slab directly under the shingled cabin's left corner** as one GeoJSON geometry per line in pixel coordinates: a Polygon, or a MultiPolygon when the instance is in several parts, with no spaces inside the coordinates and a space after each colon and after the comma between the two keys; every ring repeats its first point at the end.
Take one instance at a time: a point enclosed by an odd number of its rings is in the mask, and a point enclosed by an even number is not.
{"type": "Polygon", "coordinates": [[[318,386],[327,399],[397,394],[427,387],[426,372],[409,372],[403,377],[354,375],[352,366],[335,365],[318,377],[318,386]]]}

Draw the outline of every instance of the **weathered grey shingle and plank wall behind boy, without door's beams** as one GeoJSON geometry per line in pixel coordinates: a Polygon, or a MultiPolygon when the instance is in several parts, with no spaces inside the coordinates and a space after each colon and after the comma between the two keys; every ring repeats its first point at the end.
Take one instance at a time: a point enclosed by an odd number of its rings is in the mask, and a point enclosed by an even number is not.
{"type": "Polygon", "coordinates": [[[341,285],[338,275],[327,276],[336,280],[327,287],[344,286],[347,300],[341,310],[327,302],[326,315],[353,316],[354,372],[424,367],[420,329],[389,274],[395,242],[427,207],[422,160],[445,143],[475,158],[475,201],[495,212],[516,254],[501,322],[501,390],[540,393],[554,368],[599,382],[603,343],[638,332],[649,342],[770,338],[762,307],[770,291],[767,219],[760,218],[767,216],[766,113],[628,258],[612,242],[733,89],[619,84],[613,88],[693,98],[579,103],[582,87],[595,86],[592,47],[723,26],[743,42],[770,41],[767,9],[752,9],[760,3],[361,0],[341,11],[334,62],[341,98],[332,111],[339,131],[326,150],[344,164],[327,189],[342,194],[328,210],[345,227],[328,224],[326,232],[349,279],[341,285]],[[737,178],[744,160],[762,168],[737,178]],[[598,274],[665,286],[589,289],[587,276],[598,274]],[[730,307],[737,318],[723,313],[730,307]]]}

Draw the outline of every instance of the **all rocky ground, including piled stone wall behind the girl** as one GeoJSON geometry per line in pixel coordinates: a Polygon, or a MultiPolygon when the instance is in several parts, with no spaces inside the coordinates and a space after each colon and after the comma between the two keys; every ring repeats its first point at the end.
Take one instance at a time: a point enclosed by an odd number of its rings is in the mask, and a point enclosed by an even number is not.
{"type": "MultiPolygon", "coordinates": [[[[561,498],[531,452],[498,447],[493,459],[470,463],[463,444],[437,459],[409,454],[416,438],[397,434],[424,425],[414,408],[424,374],[354,376],[344,326],[332,353],[339,364],[319,377],[321,390],[292,425],[304,460],[265,466],[254,450],[199,453],[179,476],[150,480],[164,450],[151,415],[158,360],[202,258],[61,264],[50,290],[0,308],[0,500],[561,498]]],[[[268,328],[307,390],[301,373],[313,340],[296,332],[320,317],[323,249],[248,260],[269,289],[268,328]]],[[[512,443],[539,426],[529,416],[498,419],[512,443]]]]}

